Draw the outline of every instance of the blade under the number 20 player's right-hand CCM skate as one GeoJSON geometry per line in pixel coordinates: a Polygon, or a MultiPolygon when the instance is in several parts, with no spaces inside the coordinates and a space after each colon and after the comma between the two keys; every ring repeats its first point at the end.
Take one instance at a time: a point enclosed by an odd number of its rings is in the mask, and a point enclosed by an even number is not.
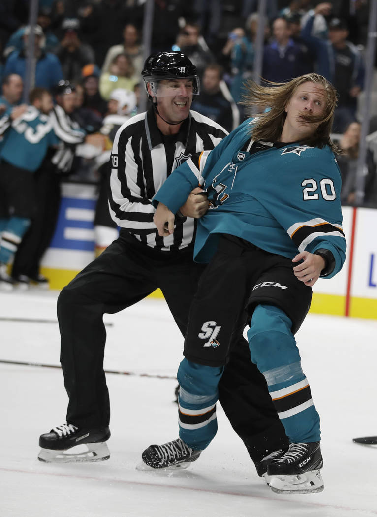
{"type": "Polygon", "coordinates": [[[268,483],[275,494],[315,494],[323,491],[320,470],[310,470],[296,476],[269,476],[268,483]]]}

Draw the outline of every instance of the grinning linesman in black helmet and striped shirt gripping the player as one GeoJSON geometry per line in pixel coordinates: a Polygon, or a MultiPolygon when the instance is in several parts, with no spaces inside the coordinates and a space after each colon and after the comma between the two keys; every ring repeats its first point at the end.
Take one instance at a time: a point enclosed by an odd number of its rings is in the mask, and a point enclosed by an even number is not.
{"type": "MultiPolygon", "coordinates": [[[[152,197],[177,166],[226,136],[207,117],[191,111],[199,92],[196,68],[181,52],[150,56],[143,77],[151,107],[118,130],[111,156],[109,206],[119,238],[89,264],[58,298],[60,360],[69,396],[67,422],[42,434],[42,461],[105,460],[109,397],[103,371],[106,332],[102,316],[129,307],[160,287],[184,335],[187,316],[204,266],[193,262],[195,223],[208,207],[206,196],[187,194],[174,236],[159,237],[152,197]],[[190,216],[190,217],[189,217],[190,216]],[[70,450],[86,444],[77,458],[70,450]]],[[[147,326],[148,327],[148,326],[147,326]]],[[[148,330],[153,334],[150,324],[148,330]]],[[[219,401],[245,443],[260,475],[266,454],[288,446],[265,380],[239,339],[230,354],[219,401]]],[[[131,394],[130,394],[131,396],[131,394]]]]}

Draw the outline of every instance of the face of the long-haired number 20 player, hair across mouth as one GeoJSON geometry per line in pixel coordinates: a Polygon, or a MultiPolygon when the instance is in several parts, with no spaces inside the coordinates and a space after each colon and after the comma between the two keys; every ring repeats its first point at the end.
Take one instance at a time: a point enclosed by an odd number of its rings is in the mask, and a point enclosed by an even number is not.
{"type": "Polygon", "coordinates": [[[287,117],[281,140],[283,142],[294,142],[313,134],[320,123],[304,122],[301,119],[301,114],[322,115],[325,106],[326,95],[323,86],[311,82],[301,84],[286,105],[287,117]]]}

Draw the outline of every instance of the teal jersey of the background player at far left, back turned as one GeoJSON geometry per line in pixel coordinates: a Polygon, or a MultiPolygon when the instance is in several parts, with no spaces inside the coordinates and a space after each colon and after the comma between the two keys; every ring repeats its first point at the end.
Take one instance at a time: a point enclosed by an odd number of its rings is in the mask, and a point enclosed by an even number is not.
{"type": "Polygon", "coordinates": [[[0,158],[19,169],[35,172],[39,169],[49,146],[60,140],[54,133],[50,117],[33,106],[12,123],[6,130],[6,140],[0,158]]]}

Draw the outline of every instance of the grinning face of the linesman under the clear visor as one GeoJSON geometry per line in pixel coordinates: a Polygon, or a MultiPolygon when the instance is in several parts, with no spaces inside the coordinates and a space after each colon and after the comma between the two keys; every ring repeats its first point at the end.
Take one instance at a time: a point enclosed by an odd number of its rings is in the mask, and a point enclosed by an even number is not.
{"type": "Polygon", "coordinates": [[[192,79],[165,79],[156,92],[160,115],[169,122],[188,117],[193,102],[192,79]]]}

